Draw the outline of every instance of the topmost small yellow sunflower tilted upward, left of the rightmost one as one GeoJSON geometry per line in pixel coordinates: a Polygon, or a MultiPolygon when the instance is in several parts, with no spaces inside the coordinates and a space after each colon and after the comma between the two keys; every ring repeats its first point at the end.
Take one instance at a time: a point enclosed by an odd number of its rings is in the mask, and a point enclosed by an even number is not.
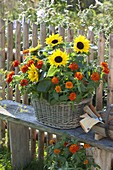
{"type": "Polygon", "coordinates": [[[46,38],[46,44],[51,45],[52,47],[61,44],[63,42],[62,36],[59,34],[52,34],[46,38]]]}

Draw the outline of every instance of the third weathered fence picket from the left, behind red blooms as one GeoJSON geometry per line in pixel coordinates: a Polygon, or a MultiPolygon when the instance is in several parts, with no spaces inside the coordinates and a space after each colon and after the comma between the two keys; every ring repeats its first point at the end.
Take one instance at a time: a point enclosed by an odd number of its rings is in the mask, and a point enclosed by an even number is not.
{"type": "MultiPolygon", "coordinates": [[[[16,42],[15,42],[15,60],[18,60],[21,62],[21,57],[20,57],[20,50],[21,50],[21,23],[16,22],[16,42]]],[[[15,68],[15,74],[18,74],[19,67],[15,68]]],[[[20,91],[18,89],[18,85],[15,88],[15,101],[20,102],[21,97],[20,97],[20,91]]]]}

